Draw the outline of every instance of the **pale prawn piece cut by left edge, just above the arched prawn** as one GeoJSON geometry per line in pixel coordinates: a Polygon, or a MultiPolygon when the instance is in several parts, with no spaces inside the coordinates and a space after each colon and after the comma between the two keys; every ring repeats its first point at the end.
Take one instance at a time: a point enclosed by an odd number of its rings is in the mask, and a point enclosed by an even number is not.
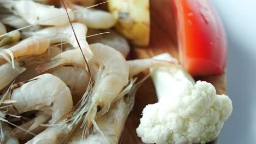
{"type": "Polygon", "coordinates": [[[18,75],[23,73],[26,68],[20,67],[19,63],[14,61],[14,67],[11,63],[0,65],[0,90],[9,85],[18,75]]]}

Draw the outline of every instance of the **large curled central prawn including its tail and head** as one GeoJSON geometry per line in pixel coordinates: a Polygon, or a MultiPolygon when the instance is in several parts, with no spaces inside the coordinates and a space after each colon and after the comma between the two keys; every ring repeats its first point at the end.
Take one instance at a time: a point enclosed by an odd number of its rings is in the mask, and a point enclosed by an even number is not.
{"type": "MultiPolygon", "coordinates": [[[[81,118],[87,111],[84,123],[82,124],[88,127],[86,129],[90,128],[91,122],[95,117],[99,117],[109,110],[110,104],[113,103],[115,98],[118,97],[122,89],[127,85],[129,77],[129,67],[120,52],[103,44],[92,44],[90,47],[94,53],[94,57],[88,61],[88,64],[95,80],[94,87],[92,88],[88,103],[86,103],[86,105],[82,103],[83,106],[80,107],[79,112],[76,112],[79,113],[79,115],[76,114],[76,117],[81,118]]],[[[65,65],[73,63],[74,58],[68,57],[72,56],[69,55],[71,53],[66,52],[66,56],[56,56],[59,58],[53,58],[48,63],[39,65],[37,70],[43,72],[60,64],[65,65]]],[[[84,61],[82,58],[75,60],[84,61]]]]}

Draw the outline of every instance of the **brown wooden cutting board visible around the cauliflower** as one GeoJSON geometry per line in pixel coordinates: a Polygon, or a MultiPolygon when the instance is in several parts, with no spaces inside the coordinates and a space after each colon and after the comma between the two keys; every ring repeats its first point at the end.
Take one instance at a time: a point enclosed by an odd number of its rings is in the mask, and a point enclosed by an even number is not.
{"type": "MultiPolygon", "coordinates": [[[[147,47],[132,47],[132,59],[150,58],[160,53],[168,52],[178,58],[178,44],[176,38],[176,26],[171,9],[170,0],[150,1],[150,45],[147,47]]],[[[147,75],[148,71],[141,75],[147,75]]],[[[218,94],[225,94],[225,74],[206,77],[194,77],[195,80],[211,82],[218,94]]],[[[119,143],[143,143],[136,134],[139,118],[144,107],[158,101],[152,79],[146,80],[138,89],[135,98],[135,106],[127,118],[126,125],[119,143]]],[[[216,143],[217,140],[210,142],[216,143]]]]}

